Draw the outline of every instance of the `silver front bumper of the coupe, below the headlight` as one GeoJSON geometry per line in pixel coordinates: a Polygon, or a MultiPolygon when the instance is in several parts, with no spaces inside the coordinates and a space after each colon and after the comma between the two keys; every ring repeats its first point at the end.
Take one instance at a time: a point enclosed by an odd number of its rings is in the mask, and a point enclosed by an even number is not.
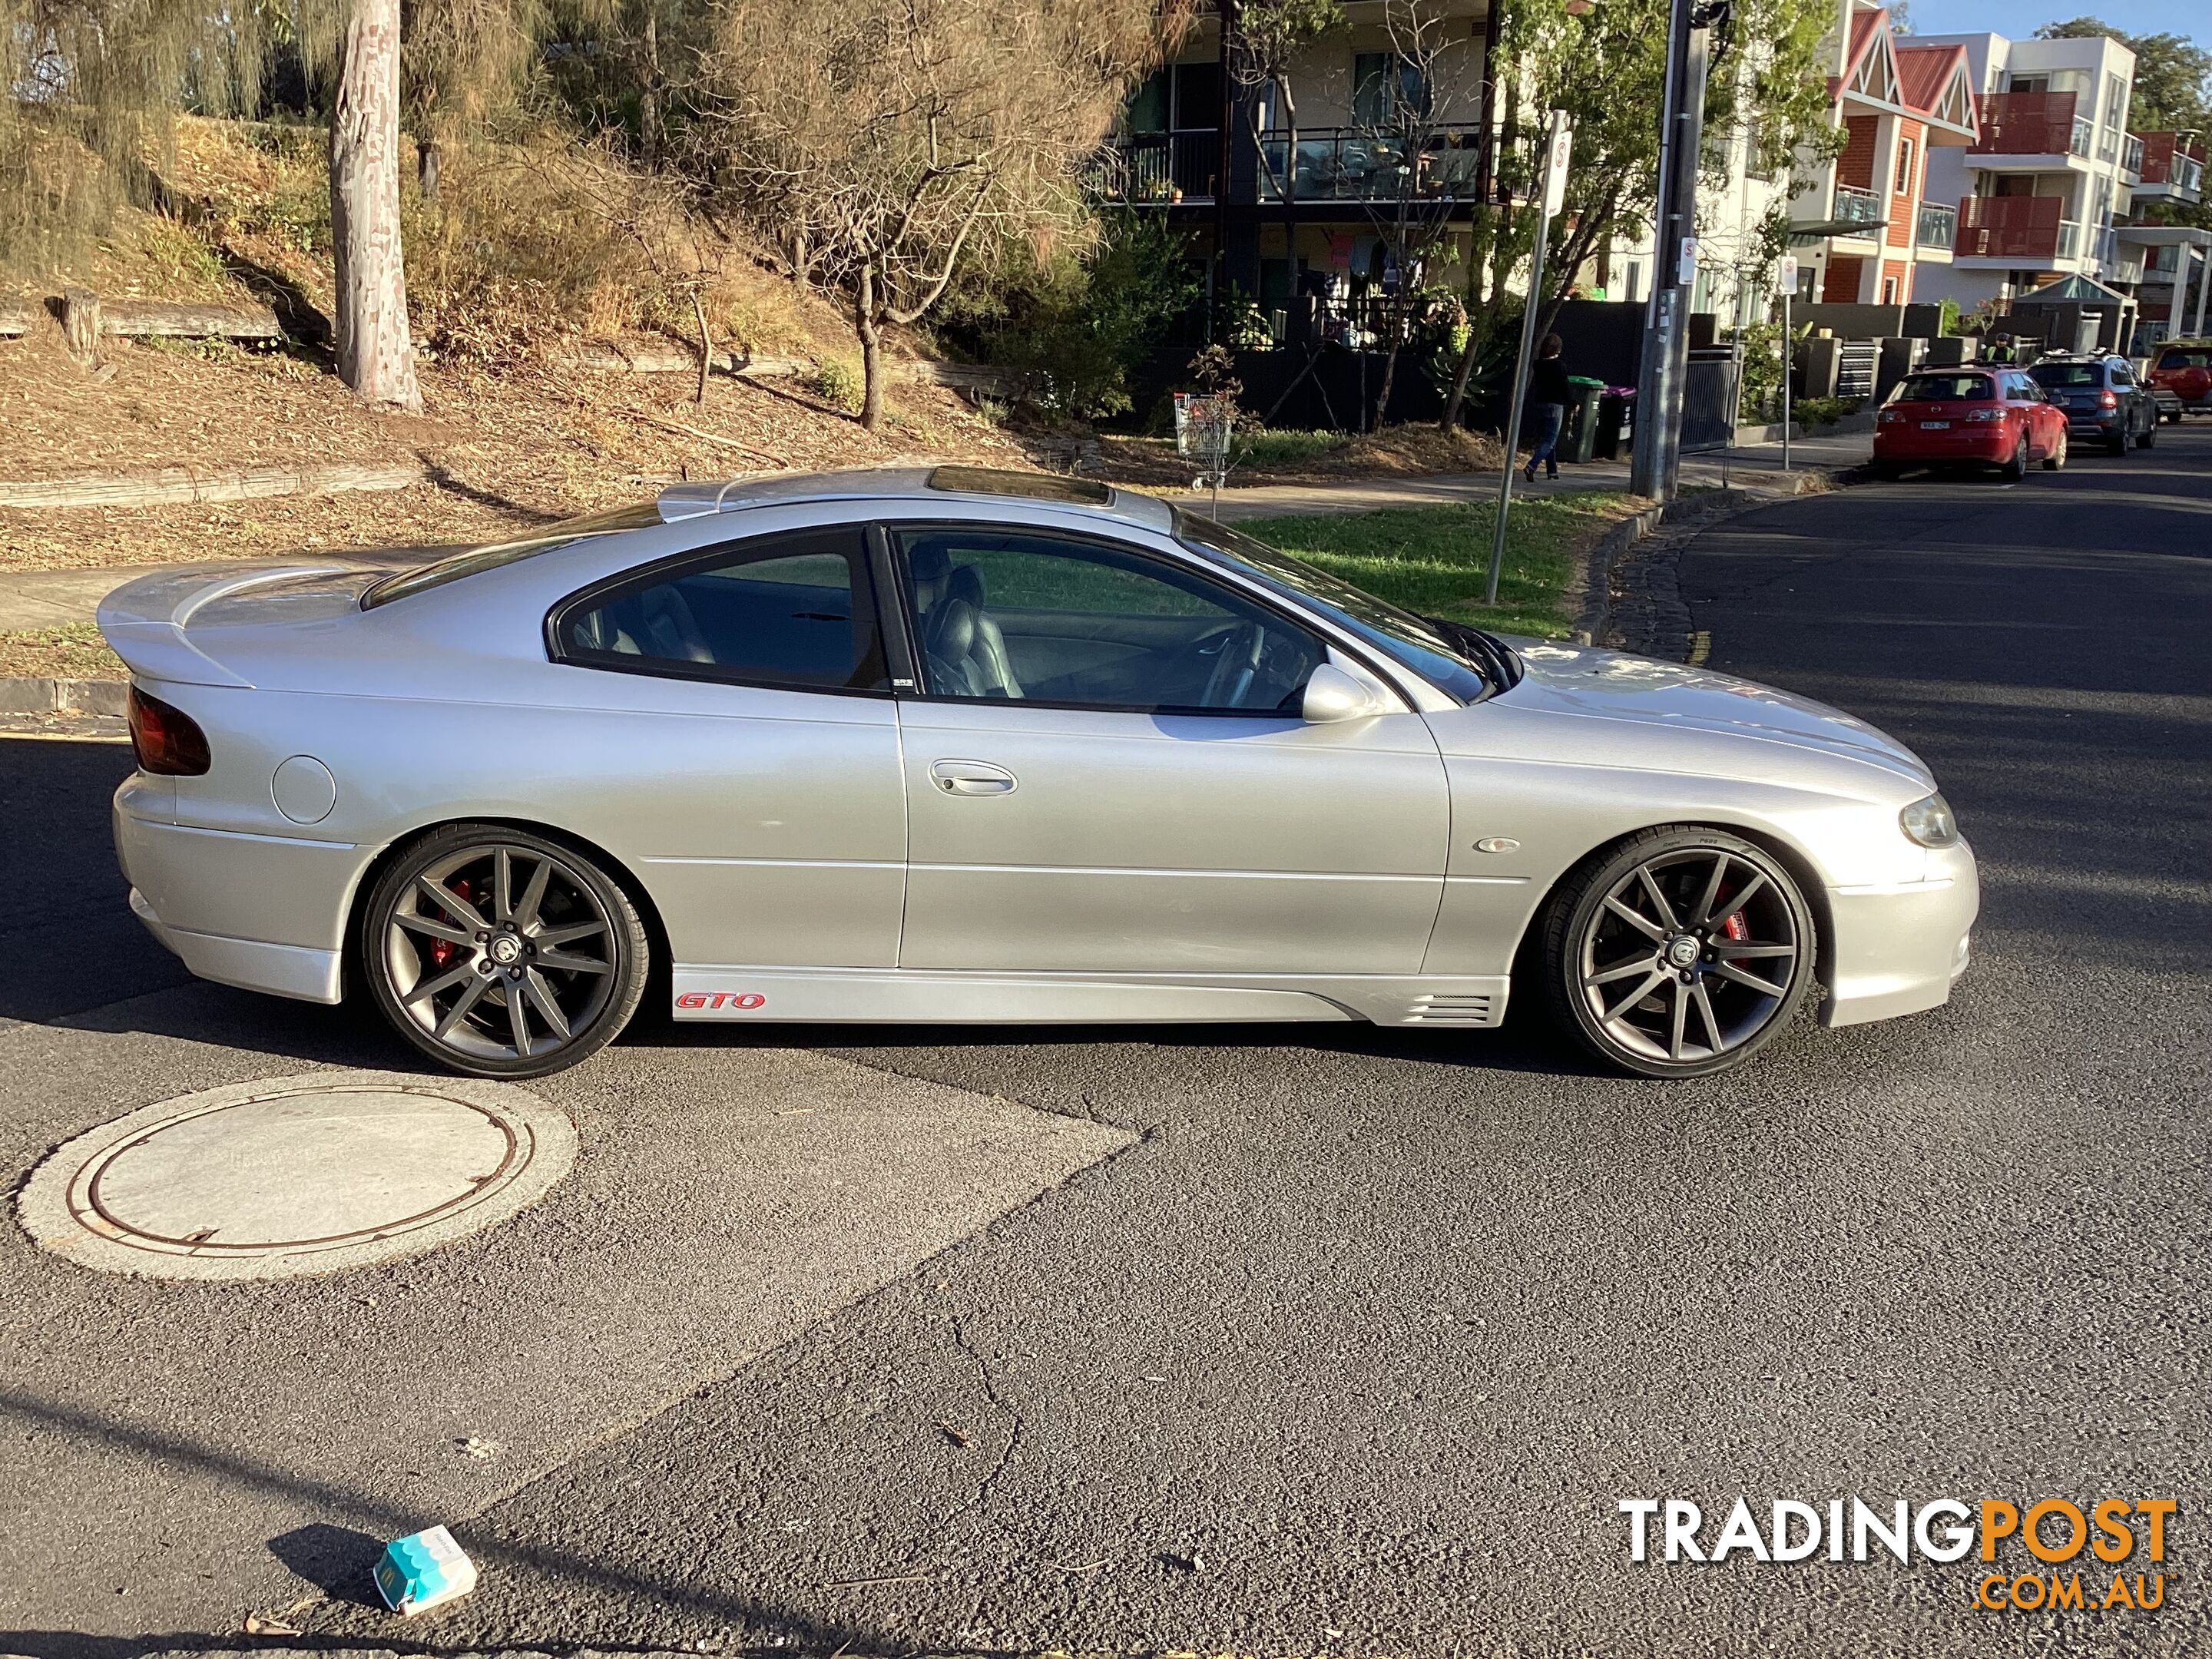
{"type": "Polygon", "coordinates": [[[1820,1024],[1856,1026],[1936,1009],[1966,971],[1982,878],[1962,841],[1929,854],[1927,880],[1829,887],[1829,995],[1820,1024]]]}

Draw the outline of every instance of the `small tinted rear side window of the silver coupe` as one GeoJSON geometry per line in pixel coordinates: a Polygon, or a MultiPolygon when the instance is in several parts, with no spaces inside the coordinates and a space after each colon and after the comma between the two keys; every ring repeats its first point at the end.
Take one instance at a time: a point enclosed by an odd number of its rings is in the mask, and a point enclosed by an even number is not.
{"type": "Polygon", "coordinates": [[[595,668],[748,686],[885,686],[858,531],[765,538],[597,588],[557,613],[555,648],[595,668]]]}

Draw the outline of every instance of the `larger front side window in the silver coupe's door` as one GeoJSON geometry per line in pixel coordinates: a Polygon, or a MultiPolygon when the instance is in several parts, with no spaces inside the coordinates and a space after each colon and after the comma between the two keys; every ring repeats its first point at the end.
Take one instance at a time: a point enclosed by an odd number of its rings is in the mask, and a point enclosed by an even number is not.
{"type": "Polygon", "coordinates": [[[1135,549],[989,524],[898,542],[931,697],[1294,714],[1327,659],[1305,628],[1135,549]]]}

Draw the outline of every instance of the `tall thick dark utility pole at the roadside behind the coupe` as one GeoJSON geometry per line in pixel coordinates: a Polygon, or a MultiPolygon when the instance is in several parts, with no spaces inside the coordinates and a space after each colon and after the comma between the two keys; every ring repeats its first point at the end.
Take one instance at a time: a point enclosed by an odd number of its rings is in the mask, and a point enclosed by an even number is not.
{"type": "Polygon", "coordinates": [[[1681,243],[1697,234],[1697,164],[1705,119],[1705,49],[1712,0],[1672,0],[1668,82],[1661,126],[1659,219],[1652,307],[1644,372],[1637,376],[1637,442],[1628,487],[1670,500],[1681,469],[1681,385],[1688,358],[1690,292],[1681,243]]]}

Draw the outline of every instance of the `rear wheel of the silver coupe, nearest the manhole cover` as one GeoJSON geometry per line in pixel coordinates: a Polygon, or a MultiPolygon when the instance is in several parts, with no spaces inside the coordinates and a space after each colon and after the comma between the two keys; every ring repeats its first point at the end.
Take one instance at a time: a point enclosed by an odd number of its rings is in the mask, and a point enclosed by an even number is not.
{"type": "Polygon", "coordinates": [[[650,967],[622,885],[495,823],[411,845],[361,916],[361,969],[407,1042],[471,1077],[544,1077],[630,1022],[650,967]]]}

